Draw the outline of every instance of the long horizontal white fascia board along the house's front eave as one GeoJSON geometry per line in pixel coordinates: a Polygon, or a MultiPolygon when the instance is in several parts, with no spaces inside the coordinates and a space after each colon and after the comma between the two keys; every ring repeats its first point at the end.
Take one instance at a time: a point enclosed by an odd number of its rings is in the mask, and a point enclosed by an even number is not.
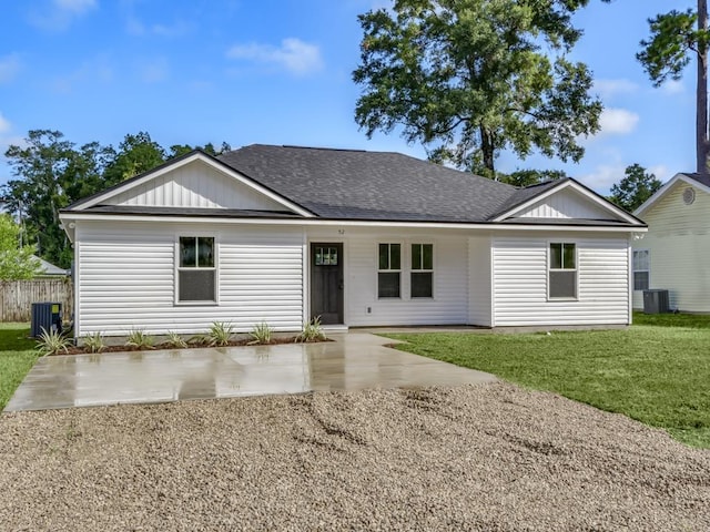
{"type": "Polygon", "coordinates": [[[403,227],[420,229],[480,229],[480,231],[551,231],[551,232],[584,232],[584,233],[646,233],[645,226],[615,227],[607,225],[540,225],[540,224],[466,224],[440,222],[379,222],[359,219],[322,219],[322,218],[222,218],[207,216],[143,216],[102,213],[63,213],[60,218],[71,226],[71,222],[79,221],[123,221],[123,222],[168,222],[182,224],[234,224],[234,225],[283,225],[283,226],[323,226],[323,227],[403,227]]]}

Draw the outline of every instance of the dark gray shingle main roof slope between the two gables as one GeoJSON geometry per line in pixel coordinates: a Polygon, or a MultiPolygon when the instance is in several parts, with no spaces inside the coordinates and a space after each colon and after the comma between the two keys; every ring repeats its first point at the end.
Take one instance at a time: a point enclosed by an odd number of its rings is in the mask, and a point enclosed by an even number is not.
{"type": "Polygon", "coordinates": [[[253,144],[217,158],[324,218],[485,222],[520,192],[390,152],[253,144]]]}

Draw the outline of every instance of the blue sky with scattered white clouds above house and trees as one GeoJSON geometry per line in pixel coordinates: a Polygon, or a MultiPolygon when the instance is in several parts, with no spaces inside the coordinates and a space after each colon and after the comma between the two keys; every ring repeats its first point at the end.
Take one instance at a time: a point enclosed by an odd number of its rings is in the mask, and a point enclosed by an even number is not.
{"type": "MultiPolygon", "coordinates": [[[[692,0],[612,0],[576,17],[574,59],[606,111],[578,164],[503,154],[498,168],[559,168],[601,194],[639,163],[666,181],[694,168],[694,64],[653,89],[635,59],[646,19],[692,0]]],[[[148,131],[163,146],[222,141],[398,151],[354,121],[357,14],[385,0],[23,0],[0,19],[0,151],[29,130],[81,145],[148,131]]],[[[0,183],[11,176],[0,157],[0,183]]]]}

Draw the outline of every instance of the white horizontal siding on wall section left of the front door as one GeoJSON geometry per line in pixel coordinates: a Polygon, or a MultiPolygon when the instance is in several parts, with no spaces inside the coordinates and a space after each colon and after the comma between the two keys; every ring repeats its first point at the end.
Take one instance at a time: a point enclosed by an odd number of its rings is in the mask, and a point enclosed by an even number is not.
{"type": "Polygon", "coordinates": [[[201,225],[219,242],[219,305],[175,305],[175,242],[194,227],[153,223],[77,224],[80,314],[77,336],[193,334],[213,321],[239,331],[265,320],[300,330],[303,319],[303,232],[201,225]]]}

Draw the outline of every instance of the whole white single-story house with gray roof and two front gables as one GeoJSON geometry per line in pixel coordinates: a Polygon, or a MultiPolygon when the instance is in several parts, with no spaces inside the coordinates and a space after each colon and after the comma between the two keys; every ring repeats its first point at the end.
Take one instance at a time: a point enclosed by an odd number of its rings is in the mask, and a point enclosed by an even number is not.
{"type": "Polygon", "coordinates": [[[75,335],[262,320],[626,325],[646,225],[574,180],[516,188],[397,153],[193,152],[82,200],[75,335]]]}

